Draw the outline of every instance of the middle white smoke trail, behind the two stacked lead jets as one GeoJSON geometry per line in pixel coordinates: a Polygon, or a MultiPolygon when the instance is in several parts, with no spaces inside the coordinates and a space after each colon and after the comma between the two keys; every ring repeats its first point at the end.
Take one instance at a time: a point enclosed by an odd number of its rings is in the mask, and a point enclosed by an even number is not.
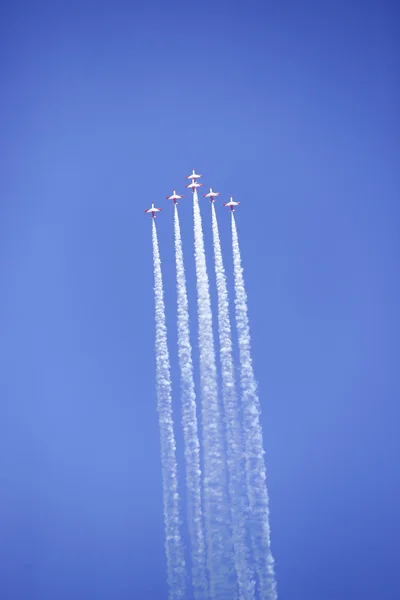
{"type": "Polygon", "coordinates": [[[222,421],[218,402],[209,282],[197,191],[193,193],[194,244],[197,277],[200,385],[204,449],[204,514],[207,536],[210,595],[213,600],[234,600],[236,581],[227,495],[222,421]]]}

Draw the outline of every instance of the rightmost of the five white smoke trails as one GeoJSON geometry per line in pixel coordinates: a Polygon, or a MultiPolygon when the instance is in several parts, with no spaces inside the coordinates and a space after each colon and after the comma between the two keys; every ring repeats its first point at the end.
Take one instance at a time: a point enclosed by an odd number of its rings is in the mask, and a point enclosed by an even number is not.
{"type": "Polygon", "coordinates": [[[246,472],[250,501],[250,527],[255,568],[261,600],[276,600],[274,559],[270,546],[267,477],[260,423],[260,401],[254,377],[247,315],[247,295],[239,250],[235,217],[232,213],[232,250],[235,277],[235,314],[240,354],[240,381],[243,400],[243,426],[246,472]]]}

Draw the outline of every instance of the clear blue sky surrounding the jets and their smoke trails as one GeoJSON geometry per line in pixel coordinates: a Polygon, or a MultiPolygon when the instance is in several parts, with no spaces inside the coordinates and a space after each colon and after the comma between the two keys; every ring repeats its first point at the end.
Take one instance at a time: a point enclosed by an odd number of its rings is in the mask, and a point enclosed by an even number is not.
{"type": "Polygon", "coordinates": [[[241,202],[280,598],[399,598],[397,3],[141,4],[0,9],[0,597],[166,598],[143,210],[177,392],[195,167],[230,289],[241,202]]]}

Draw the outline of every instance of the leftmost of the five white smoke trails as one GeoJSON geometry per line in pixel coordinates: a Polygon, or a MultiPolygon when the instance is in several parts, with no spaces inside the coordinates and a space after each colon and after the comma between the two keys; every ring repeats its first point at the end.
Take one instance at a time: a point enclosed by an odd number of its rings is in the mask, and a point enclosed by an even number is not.
{"type": "Polygon", "coordinates": [[[186,572],[180,535],[176,446],[172,420],[171,377],[165,324],[164,291],[157,230],[152,220],[154,298],[156,322],[156,388],[160,424],[164,498],[165,552],[170,600],[186,598],[186,572]]]}

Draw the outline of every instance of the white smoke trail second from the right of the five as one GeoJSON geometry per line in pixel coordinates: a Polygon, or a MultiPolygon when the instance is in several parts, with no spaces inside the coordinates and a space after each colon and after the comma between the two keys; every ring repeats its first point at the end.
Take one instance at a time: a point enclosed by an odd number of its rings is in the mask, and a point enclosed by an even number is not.
{"type": "Polygon", "coordinates": [[[227,439],[229,495],[232,516],[233,546],[240,600],[254,600],[254,578],[249,564],[246,543],[246,476],[244,472],[243,440],[238,417],[235,372],[232,358],[232,336],[229,320],[228,290],[222,261],[215,206],[211,204],[214,242],[215,276],[218,293],[218,333],[222,373],[222,393],[227,439]]]}

